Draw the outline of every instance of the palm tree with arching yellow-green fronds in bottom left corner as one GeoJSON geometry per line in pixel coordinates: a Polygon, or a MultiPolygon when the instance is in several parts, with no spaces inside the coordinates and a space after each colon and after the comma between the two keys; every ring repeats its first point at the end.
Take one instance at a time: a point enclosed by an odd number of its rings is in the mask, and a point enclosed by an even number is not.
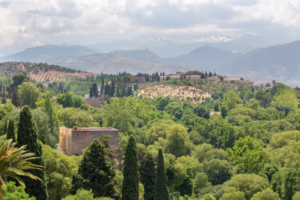
{"type": "Polygon", "coordinates": [[[25,187],[20,176],[28,176],[33,179],[42,181],[32,173],[26,172],[27,169],[41,169],[42,166],[32,164],[30,160],[36,159],[34,153],[25,150],[26,145],[19,148],[15,147],[12,139],[0,140],[0,200],[2,200],[2,185],[6,184],[7,177],[17,180],[20,185],[25,187]]]}

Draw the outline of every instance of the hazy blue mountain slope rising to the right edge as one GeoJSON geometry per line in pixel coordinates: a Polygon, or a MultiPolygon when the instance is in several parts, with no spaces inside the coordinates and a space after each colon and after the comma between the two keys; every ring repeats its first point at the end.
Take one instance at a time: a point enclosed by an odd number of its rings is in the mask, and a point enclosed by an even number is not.
{"type": "Polygon", "coordinates": [[[299,85],[300,41],[249,51],[228,64],[236,74],[247,78],[276,79],[299,85]]]}

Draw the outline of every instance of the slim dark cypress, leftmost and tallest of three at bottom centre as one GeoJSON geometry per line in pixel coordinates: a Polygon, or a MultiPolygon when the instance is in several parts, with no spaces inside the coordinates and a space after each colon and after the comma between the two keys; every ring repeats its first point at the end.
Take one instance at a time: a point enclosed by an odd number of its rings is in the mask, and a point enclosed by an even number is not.
{"type": "Polygon", "coordinates": [[[122,200],[138,200],[138,183],[137,148],[130,135],[124,158],[122,200]]]}

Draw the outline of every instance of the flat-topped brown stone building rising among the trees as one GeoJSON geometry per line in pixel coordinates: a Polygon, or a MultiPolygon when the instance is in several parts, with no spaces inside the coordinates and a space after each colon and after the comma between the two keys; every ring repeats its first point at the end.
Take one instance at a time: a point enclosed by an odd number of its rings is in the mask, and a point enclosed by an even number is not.
{"type": "Polygon", "coordinates": [[[119,147],[119,133],[114,128],[66,128],[59,127],[59,151],[66,155],[81,155],[82,149],[86,148],[92,140],[100,135],[110,136],[109,145],[112,149],[119,147]]]}

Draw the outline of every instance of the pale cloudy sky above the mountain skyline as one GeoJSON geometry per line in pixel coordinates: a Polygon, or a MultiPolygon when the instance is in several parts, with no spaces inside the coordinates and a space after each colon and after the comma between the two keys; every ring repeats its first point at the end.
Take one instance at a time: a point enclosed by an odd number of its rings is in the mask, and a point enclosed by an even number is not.
{"type": "Polygon", "coordinates": [[[300,0],[0,0],[0,49],[141,35],[299,37],[300,0]]]}

